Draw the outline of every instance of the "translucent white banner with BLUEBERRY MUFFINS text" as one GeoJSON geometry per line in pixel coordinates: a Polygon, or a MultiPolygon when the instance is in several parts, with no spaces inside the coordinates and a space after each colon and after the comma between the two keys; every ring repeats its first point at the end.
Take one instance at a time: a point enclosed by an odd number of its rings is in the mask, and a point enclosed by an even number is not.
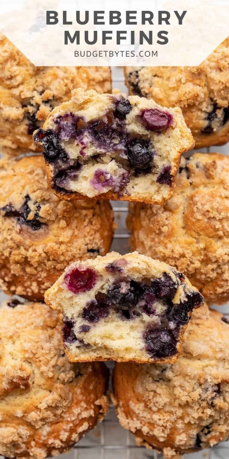
{"type": "Polygon", "coordinates": [[[197,66],[229,34],[229,2],[0,1],[0,30],[37,66],[197,66]]]}

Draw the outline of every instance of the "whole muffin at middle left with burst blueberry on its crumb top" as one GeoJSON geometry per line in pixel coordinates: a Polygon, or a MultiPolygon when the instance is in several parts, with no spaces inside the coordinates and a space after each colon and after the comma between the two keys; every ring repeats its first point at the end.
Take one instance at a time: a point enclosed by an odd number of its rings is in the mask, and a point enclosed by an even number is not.
{"type": "Polygon", "coordinates": [[[77,258],[109,251],[109,202],[60,201],[48,188],[42,156],[0,160],[0,286],[33,300],[77,258]]]}

